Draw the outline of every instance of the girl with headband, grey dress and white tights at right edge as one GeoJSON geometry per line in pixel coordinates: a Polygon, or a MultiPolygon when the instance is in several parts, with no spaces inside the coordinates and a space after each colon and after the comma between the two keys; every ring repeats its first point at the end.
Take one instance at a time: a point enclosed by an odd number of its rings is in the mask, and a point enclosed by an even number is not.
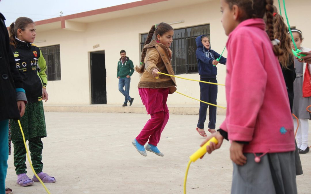
{"type": "MultiPolygon", "coordinates": [[[[310,52],[309,48],[301,47],[303,41],[302,32],[299,29],[291,30],[294,41],[298,49],[303,52],[310,52]]],[[[295,50],[295,46],[292,43],[292,48],[295,50]]],[[[308,134],[309,134],[309,123],[311,114],[306,108],[311,105],[311,84],[308,78],[310,78],[310,67],[308,63],[303,63],[299,59],[295,60],[296,68],[296,79],[294,82],[294,103],[293,103],[293,114],[296,115],[299,121],[299,127],[296,134],[297,146],[299,154],[306,154],[309,152],[308,146],[308,134]]],[[[309,109],[310,110],[310,109],[309,109]]],[[[297,120],[294,119],[294,127],[297,128],[297,120]]]]}

